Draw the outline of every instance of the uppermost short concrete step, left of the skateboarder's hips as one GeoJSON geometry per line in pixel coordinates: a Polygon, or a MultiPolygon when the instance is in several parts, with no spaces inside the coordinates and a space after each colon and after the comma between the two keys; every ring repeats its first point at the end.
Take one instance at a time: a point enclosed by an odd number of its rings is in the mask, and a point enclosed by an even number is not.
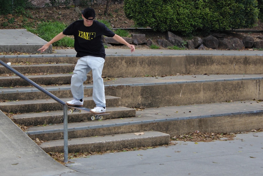
{"type": "MultiPolygon", "coordinates": [[[[74,64],[36,64],[36,65],[12,65],[13,69],[21,74],[26,73],[73,73],[74,64]]],[[[0,74],[12,74],[13,72],[0,66],[0,74]]]]}

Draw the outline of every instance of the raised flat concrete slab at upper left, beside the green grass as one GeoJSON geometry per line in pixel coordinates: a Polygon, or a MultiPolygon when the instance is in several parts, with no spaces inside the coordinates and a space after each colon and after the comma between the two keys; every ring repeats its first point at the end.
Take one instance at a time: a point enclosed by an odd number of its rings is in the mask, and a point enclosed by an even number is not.
{"type": "MultiPolygon", "coordinates": [[[[0,29],[0,52],[40,53],[47,41],[28,32],[26,29],[0,29]]],[[[52,53],[52,45],[44,53],[52,53]]]]}

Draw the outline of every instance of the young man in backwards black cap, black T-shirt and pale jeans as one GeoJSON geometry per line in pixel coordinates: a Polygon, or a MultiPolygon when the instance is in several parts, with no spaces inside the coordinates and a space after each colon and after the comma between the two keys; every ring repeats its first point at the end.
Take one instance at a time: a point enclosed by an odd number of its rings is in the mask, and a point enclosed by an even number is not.
{"type": "Polygon", "coordinates": [[[66,102],[69,106],[82,107],[84,97],[83,82],[87,79],[87,73],[92,70],[93,94],[92,98],[96,104],[94,109],[90,110],[94,114],[104,113],[106,111],[106,100],[104,93],[104,84],[102,69],[105,61],[105,49],[102,42],[102,35],[112,37],[117,42],[122,43],[135,51],[134,45],[127,43],[123,38],[114,34],[105,24],[95,21],[95,11],[92,8],[86,8],[81,11],[83,20],[78,20],[70,24],[63,32],[59,33],[47,44],[43,45],[38,51],[45,51],[48,47],[67,35],[74,36],[74,48],[77,51],[76,57],[80,57],[71,77],[71,92],[73,100],[66,102]]]}

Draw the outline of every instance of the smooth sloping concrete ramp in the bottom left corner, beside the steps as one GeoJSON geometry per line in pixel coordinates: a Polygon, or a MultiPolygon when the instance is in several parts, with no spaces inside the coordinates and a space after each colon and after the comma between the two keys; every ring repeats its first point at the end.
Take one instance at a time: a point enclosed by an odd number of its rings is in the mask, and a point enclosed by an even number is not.
{"type": "Polygon", "coordinates": [[[75,172],[45,153],[2,111],[0,136],[0,166],[3,176],[59,175],[75,172]]]}

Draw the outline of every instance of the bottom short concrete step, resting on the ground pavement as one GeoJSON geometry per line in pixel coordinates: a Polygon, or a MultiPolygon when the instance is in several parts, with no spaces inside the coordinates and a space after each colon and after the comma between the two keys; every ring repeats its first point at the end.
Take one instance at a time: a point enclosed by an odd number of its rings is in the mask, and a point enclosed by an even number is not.
{"type": "MultiPolygon", "coordinates": [[[[68,140],[68,152],[101,152],[124,148],[150,147],[168,144],[170,135],[157,131],[139,131],[96,137],[82,137],[68,140]]],[[[39,145],[45,152],[63,152],[63,140],[50,140],[39,145]]]]}

